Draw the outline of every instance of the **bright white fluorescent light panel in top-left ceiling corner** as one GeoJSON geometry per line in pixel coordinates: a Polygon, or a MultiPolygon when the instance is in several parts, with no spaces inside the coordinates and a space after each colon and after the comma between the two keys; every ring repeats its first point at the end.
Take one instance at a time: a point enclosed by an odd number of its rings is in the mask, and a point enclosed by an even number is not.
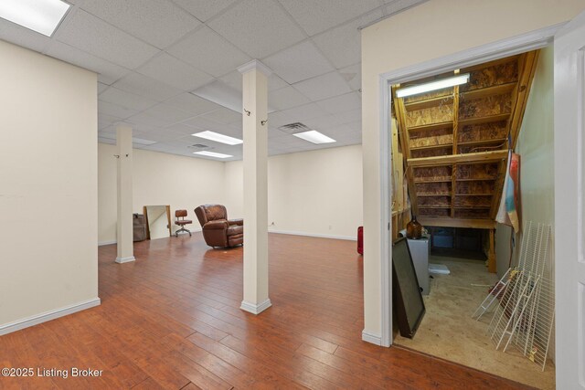
{"type": "Polygon", "coordinates": [[[70,6],[61,0],[2,0],[0,17],[50,37],[70,6]]]}

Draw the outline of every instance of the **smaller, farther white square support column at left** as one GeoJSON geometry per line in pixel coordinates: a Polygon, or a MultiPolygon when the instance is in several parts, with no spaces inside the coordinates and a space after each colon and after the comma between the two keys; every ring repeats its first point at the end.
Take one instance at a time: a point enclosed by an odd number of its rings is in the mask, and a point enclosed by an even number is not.
{"type": "Polygon", "coordinates": [[[118,223],[116,263],[134,261],[133,248],[133,194],[132,194],[132,127],[120,124],[116,127],[118,157],[118,223]]]}

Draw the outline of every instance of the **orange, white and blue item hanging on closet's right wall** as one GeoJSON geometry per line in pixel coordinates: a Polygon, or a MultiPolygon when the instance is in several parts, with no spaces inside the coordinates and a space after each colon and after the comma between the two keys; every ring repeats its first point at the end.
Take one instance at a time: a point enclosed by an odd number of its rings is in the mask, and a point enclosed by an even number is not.
{"type": "Polygon", "coordinates": [[[520,154],[508,152],[508,163],[505,169],[504,188],[500,207],[495,220],[501,224],[514,228],[514,232],[520,231],[520,154]]]}

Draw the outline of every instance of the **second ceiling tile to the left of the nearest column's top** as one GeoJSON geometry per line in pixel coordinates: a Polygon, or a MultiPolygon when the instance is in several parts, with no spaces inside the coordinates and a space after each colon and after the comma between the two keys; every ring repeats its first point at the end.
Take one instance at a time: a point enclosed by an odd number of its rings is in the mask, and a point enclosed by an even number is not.
{"type": "Polygon", "coordinates": [[[161,53],[136,71],[185,91],[195,90],[214,79],[213,76],[166,53],[161,53]]]}

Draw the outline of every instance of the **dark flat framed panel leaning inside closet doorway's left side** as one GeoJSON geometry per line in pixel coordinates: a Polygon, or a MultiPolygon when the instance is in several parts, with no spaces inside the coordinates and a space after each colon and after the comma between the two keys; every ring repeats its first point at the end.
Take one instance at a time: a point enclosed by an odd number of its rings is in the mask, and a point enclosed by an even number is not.
{"type": "Polygon", "coordinates": [[[419,328],[425,307],[409,241],[404,237],[392,245],[392,297],[400,335],[411,339],[419,328]]]}

